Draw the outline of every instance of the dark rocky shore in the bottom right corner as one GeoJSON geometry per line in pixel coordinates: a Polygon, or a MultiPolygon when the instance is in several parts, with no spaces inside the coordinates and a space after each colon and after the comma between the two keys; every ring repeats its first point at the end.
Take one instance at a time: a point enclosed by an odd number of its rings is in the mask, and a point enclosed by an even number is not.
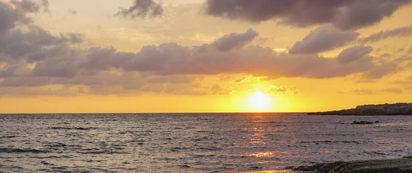
{"type": "Polygon", "coordinates": [[[299,166],[292,170],[311,173],[412,173],[412,157],[318,163],[311,166],[299,166]]]}

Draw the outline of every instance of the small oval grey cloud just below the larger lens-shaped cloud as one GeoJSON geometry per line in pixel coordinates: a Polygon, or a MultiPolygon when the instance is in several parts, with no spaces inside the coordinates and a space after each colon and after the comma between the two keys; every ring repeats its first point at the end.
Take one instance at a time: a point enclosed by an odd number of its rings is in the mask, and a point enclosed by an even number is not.
{"type": "Polygon", "coordinates": [[[357,59],[361,59],[373,50],[374,49],[371,46],[353,46],[339,53],[336,59],[343,64],[350,63],[356,61],[357,59]]]}

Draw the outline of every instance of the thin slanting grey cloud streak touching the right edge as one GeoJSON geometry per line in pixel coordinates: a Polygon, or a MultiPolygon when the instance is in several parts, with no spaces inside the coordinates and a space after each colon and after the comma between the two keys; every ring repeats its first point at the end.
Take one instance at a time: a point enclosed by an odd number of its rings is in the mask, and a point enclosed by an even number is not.
{"type": "Polygon", "coordinates": [[[379,40],[394,37],[394,36],[411,36],[411,35],[412,35],[412,27],[410,26],[400,27],[396,29],[380,31],[376,34],[371,34],[370,36],[367,36],[365,38],[360,38],[358,42],[365,44],[367,42],[377,42],[379,40]]]}

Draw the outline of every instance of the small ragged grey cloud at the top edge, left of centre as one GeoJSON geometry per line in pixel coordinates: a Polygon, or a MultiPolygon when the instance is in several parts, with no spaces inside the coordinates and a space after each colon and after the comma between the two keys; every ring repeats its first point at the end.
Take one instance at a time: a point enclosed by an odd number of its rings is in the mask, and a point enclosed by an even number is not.
{"type": "Polygon", "coordinates": [[[145,18],[147,16],[155,17],[163,14],[163,8],[160,3],[153,0],[134,0],[134,4],[129,8],[120,8],[115,16],[124,16],[126,18],[145,18]]]}

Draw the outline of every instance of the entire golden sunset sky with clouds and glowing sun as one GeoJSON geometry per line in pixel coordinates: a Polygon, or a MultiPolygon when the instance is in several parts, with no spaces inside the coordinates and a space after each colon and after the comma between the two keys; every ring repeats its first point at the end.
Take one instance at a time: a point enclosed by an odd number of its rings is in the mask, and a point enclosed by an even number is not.
{"type": "Polygon", "coordinates": [[[412,102],[412,0],[0,0],[0,113],[412,102]]]}

